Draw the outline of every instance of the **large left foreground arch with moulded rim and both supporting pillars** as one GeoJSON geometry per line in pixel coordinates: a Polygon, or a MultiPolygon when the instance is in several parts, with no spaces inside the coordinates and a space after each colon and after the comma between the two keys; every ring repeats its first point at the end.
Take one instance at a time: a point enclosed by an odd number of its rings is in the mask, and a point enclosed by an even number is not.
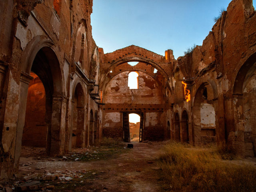
{"type": "Polygon", "coordinates": [[[28,75],[30,71],[35,72],[40,77],[46,92],[45,122],[48,127],[46,151],[52,156],[64,152],[64,140],[61,138],[64,137],[65,132],[61,118],[65,118],[62,105],[65,105],[67,100],[63,97],[63,76],[59,59],[54,51],[55,48],[54,43],[45,36],[36,36],[22,52],[15,162],[18,162],[20,156],[22,130],[26,114],[26,102],[24,101],[27,100],[28,84],[31,80],[28,75]]]}

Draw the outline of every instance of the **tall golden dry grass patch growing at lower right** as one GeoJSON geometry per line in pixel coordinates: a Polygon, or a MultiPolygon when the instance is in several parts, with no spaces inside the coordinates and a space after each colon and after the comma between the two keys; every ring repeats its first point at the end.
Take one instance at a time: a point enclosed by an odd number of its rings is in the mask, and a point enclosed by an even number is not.
{"type": "Polygon", "coordinates": [[[222,160],[216,150],[170,143],[159,164],[166,191],[256,191],[256,166],[222,160]]]}

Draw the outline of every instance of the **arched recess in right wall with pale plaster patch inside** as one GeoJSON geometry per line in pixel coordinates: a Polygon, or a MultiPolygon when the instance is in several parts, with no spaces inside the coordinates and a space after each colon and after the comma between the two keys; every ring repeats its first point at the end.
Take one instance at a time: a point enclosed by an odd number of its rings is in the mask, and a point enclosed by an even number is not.
{"type": "Polygon", "coordinates": [[[218,93],[212,83],[200,84],[193,103],[193,132],[195,144],[209,144],[216,142],[215,118],[218,111],[216,96],[218,93]]]}

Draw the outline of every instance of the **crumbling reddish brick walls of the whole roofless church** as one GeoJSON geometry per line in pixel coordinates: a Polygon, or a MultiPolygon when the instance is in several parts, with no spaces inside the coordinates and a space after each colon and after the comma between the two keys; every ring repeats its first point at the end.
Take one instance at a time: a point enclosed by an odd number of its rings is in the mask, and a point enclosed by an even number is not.
{"type": "Polygon", "coordinates": [[[256,156],[252,0],[232,0],[203,44],[178,58],[175,50],[159,55],[136,45],[104,53],[92,37],[92,5],[0,1],[2,182],[26,166],[24,150],[51,161],[104,138],[137,148],[174,141],[256,156]]]}

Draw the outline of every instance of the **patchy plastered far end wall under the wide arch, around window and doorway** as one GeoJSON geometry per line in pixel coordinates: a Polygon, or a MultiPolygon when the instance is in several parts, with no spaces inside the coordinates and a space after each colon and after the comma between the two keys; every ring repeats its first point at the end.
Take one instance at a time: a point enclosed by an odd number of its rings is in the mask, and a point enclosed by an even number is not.
{"type": "MultiPolygon", "coordinates": [[[[155,80],[154,76],[152,77],[148,73],[136,70],[138,72],[138,89],[130,89],[128,86],[128,74],[131,71],[117,72],[117,75],[112,77],[106,85],[106,89],[102,94],[102,100],[105,104],[103,106],[103,134],[107,137],[123,138],[122,127],[124,126],[122,120],[124,119],[124,114],[143,112],[145,116],[143,139],[151,141],[164,140],[166,125],[161,120],[164,118],[163,111],[165,108],[164,88],[162,84],[155,80]]],[[[161,78],[160,74],[156,74],[156,77],[161,78]]],[[[128,126],[129,122],[127,121],[127,128],[128,126]]]]}

